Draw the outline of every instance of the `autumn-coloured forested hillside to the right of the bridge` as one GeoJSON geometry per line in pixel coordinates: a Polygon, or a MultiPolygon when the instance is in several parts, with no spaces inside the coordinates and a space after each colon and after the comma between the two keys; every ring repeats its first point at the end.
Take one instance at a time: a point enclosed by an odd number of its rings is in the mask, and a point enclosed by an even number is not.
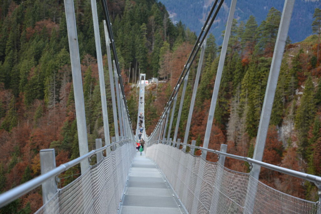
{"type": "MultiPolygon", "coordinates": [[[[319,14],[319,10],[316,14],[319,14]]],[[[257,24],[254,16],[250,16],[245,23],[233,21],[210,138],[209,147],[211,149],[219,150],[220,144],[225,143],[228,145],[229,153],[247,157],[253,156],[280,18],[280,11],[271,8],[266,19],[260,25],[257,24]]],[[[263,161],[320,176],[321,69],[317,46],[318,35],[312,35],[299,43],[290,44],[289,41],[287,42],[263,161]]],[[[166,64],[169,64],[169,67],[177,66],[176,62],[180,58],[177,57],[179,52],[183,54],[184,57],[181,59],[185,62],[186,56],[188,56],[186,54],[188,51],[182,52],[185,48],[186,46],[178,49],[173,48],[164,55],[163,61],[167,61],[166,64]]],[[[204,139],[219,61],[216,52],[219,49],[220,47],[215,45],[213,35],[210,35],[188,140],[188,142],[196,140],[196,145],[202,145],[204,139]]],[[[179,71],[182,70],[183,64],[181,64],[179,71]]],[[[145,109],[149,110],[146,115],[154,111],[159,115],[163,111],[163,106],[168,101],[164,97],[169,96],[174,82],[176,82],[176,68],[173,67],[172,72],[172,79],[175,81],[168,81],[163,85],[163,88],[159,87],[161,89],[157,92],[157,96],[155,96],[155,89],[151,90],[149,94],[146,93],[147,107],[145,109]],[[159,109],[158,106],[160,106],[159,109]]],[[[195,74],[196,64],[192,66],[189,75],[179,125],[178,138],[182,140],[195,74]]],[[[180,100],[180,94],[178,100],[180,100]]],[[[178,106],[174,118],[178,114],[178,106]]],[[[146,118],[153,119],[147,116],[146,118]]],[[[155,124],[157,119],[153,119],[151,124],[155,124]]],[[[148,126],[146,130],[152,131],[153,127],[148,126]]],[[[171,131],[171,137],[173,137],[174,128],[171,131]]],[[[200,151],[196,151],[196,154],[200,155],[200,151]]],[[[208,154],[207,158],[211,161],[217,160],[217,156],[214,154],[208,154]]],[[[249,172],[249,165],[242,161],[228,158],[226,166],[233,170],[249,172]]],[[[314,184],[272,170],[262,168],[260,180],[273,188],[297,197],[312,201],[316,201],[318,198],[317,188],[314,184]]]]}

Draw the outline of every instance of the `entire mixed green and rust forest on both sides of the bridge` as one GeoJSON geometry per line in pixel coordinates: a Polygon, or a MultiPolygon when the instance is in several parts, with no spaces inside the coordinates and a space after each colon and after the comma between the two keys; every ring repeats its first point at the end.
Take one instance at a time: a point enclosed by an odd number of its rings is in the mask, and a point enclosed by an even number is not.
{"type": "MultiPolygon", "coordinates": [[[[164,83],[150,84],[145,94],[145,128],[150,134],[178,81],[195,43],[194,32],[173,24],[157,0],[107,1],[133,127],[137,120],[139,73],[164,83]]],[[[89,149],[104,139],[100,88],[90,1],[74,1],[89,149]]],[[[115,135],[104,19],[97,2],[104,61],[110,136],[115,135]]],[[[304,41],[287,41],[263,161],[321,176],[321,10],[316,8],[304,41]]],[[[267,77],[281,12],[271,8],[261,23],[250,16],[233,21],[211,149],[252,157],[267,77]]],[[[198,32],[196,32],[198,33],[198,32]]],[[[224,32],[222,32],[224,35],[224,32]]],[[[208,36],[196,96],[190,139],[202,145],[221,47],[208,36]]],[[[178,138],[183,138],[198,59],[192,64],[178,138]]],[[[180,100],[180,93],[178,100],[180,100]]],[[[178,105],[174,112],[178,114],[178,105]]],[[[176,124],[174,119],[173,124],[176,124]]],[[[172,134],[173,136],[173,128],[172,134]]],[[[190,142],[190,141],[189,141],[190,142]]],[[[0,191],[40,174],[39,150],[55,148],[56,166],[79,157],[64,3],[60,0],[0,0],[0,191]]],[[[200,151],[196,151],[200,154],[200,151]]],[[[210,161],[217,161],[208,154],[210,161]]],[[[226,167],[249,172],[247,163],[227,158],[226,167]]],[[[58,188],[80,174],[73,167],[59,175],[58,188]]],[[[317,200],[314,184],[262,168],[260,180],[282,192],[317,200]]],[[[41,188],[0,210],[31,213],[42,205],[41,188]]]]}

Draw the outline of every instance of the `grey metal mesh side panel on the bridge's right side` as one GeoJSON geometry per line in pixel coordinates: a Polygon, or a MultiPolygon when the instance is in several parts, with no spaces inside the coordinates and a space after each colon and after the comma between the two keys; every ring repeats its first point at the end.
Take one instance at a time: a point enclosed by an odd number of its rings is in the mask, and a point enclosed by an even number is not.
{"type": "Polygon", "coordinates": [[[252,194],[253,213],[321,210],[319,203],[282,193],[247,173],[230,170],[172,146],[153,144],[147,148],[146,157],[158,164],[189,213],[252,213],[245,204],[248,182],[257,185],[256,193],[252,194]]]}

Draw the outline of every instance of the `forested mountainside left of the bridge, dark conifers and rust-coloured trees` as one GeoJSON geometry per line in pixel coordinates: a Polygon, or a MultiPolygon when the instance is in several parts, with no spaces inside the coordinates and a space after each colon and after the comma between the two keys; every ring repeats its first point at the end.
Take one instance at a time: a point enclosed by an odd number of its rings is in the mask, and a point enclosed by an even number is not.
{"type": "MultiPolygon", "coordinates": [[[[102,113],[90,1],[74,1],[86,122],[90,150],[102,138],[102,113]]],[[[97,2],[103,55],[106,54],[103,13],[97,2]]],[[[157,76],[160,52],[166,40],[179,47],[187,39],[182,24],[167,18],[156,0],[108,1],[115,43],[124,81],[140,70],[157,76]],[[164,19],[165,17],[165,19],[164,19]],[[125,71],[126,69],[126,71],[125,71]]],[[[187,36],[188,35],[188,36],[187,36]]],[[[108,66],[104,57],[104,71],[108,66]]],[[[114,135],[108,75],[106,92],[110,136],[114,135]]],[[[138,80],[138,79],[137,79],[138,80]]],[[[56,0],[0,0],[0,191],[6,191],[39,175],[39,150],[55,148],[57,166],[79,156],[65,9],[56,0]]],[[[125,85],[126,92],[130,90],[125,85]]],[[[135,96],[128,94],[132,121],[135,96]]],[[[58,186],[77,177],[79,167],[69,169],[58,186]]],[[[1,209],[1,213],[34,212],[42,204],[40,188],[1,209]]]]}

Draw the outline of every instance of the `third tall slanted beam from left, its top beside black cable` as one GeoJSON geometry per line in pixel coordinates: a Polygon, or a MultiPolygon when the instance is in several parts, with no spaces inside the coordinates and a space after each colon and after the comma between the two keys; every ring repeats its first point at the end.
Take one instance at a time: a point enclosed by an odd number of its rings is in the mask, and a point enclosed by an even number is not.
{"type": "Polygon", "coordinates": [[[104,31],[105,31],[105,40],[106,40],[106,49],[107,49],[110,93],[111,93],[111,103],[112,103],[112,106],[113,106],[115,135],[116,135],[116,140],[118,140],[119,132],[118,132],[118,122],[117,122],[117,107],[116,107],[116,98],[115,98],[113,65],[111,63],[111,54],[110,54],[110,46],[109,46],[110,41],[109,41],[109,35],[108,35],[108,31],[107,31],[107,24],[106,24],[105,20],[104,20],[104,31]]]}

